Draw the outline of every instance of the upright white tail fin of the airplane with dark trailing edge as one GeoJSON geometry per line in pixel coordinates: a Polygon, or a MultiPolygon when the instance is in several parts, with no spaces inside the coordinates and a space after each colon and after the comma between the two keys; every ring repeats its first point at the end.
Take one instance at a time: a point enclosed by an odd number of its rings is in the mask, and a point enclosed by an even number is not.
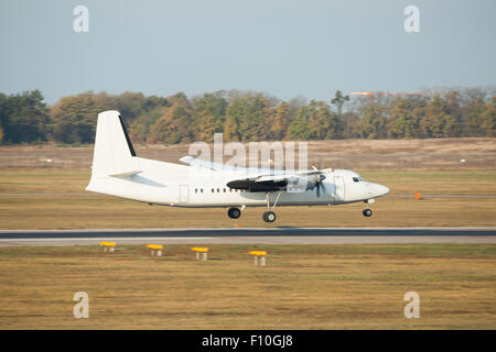
{"type": "Polygon", "coordinates": [[[91,176],[126,176],[140,172],[131,140],[119,111],[98,114],[91,176]]]}

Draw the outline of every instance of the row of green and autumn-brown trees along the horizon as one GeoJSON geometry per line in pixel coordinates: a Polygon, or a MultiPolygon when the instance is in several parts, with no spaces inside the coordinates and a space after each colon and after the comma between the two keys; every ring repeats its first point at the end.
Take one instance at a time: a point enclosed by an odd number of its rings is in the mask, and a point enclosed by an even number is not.
{"type": "Polygon", "coordinates": [[[96,117],[119,110],[134,142],[425,139],[495,136],[496,96],[483,88],[375,94],[351,99],[336,91],[330,101],[281,101],[252,91],[216,91],[188,99],[84,92],[43,102],[39,90],[0,94],[0,142],[91,143],[96,117]]]}

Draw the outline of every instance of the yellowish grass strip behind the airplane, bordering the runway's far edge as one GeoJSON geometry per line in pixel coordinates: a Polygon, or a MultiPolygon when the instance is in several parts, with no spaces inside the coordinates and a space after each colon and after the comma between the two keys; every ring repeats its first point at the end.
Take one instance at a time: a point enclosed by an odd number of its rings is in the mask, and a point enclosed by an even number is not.
{"type": "Polygon", "coordinates": [[[278,220],[267,224],[262,208],[248,208],[240,219],[231,220],[226,209],[150,207],[94,196],[84,190],[88,170],[0,169],[0,229],[496,226],[496,198],[413,199],[414,193],[496,197],[495,170],[364,170],[362,175],[391,189],[390,196],[371,206],[371,218],[362,216],[363,204],[279,207],[278,220]]]}

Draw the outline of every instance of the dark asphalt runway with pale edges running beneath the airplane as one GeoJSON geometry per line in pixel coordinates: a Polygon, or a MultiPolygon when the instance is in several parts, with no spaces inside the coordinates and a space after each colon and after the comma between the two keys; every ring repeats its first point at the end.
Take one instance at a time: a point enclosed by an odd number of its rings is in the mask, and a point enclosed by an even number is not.
{"type": "Polygon", "coordinates": [[[0,230],[0,246],[118,244],[496,243],[496,228],[0,230]]]}

